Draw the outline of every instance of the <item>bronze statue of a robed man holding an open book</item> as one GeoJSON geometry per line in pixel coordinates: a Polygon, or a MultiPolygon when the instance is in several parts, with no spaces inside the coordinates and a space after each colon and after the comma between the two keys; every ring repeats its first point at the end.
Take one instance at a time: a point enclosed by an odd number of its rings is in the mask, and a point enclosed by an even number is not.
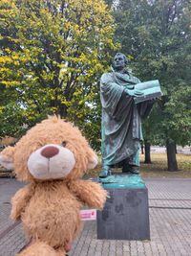
{"type": "Polygon", "coordinates": [[[140,82],[127,69],[127,58],[117,53],[114,69],[100,81],[102,105],[102,171],[122,167],[122,173],[138,174],[141,120],[146,118],[161,95],[159,81],[140,82]]]}

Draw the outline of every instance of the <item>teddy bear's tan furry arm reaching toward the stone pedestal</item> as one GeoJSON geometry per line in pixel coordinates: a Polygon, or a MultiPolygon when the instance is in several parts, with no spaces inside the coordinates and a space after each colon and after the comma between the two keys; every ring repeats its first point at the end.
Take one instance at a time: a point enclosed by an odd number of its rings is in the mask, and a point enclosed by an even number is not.
{"type": "Polygon", "coordinates": [[[102,209],[107,197],[105,191],[99,184],[89,180],[78,180],[73,183],[71,189],[83,203],[89,207],[102,209]]]}

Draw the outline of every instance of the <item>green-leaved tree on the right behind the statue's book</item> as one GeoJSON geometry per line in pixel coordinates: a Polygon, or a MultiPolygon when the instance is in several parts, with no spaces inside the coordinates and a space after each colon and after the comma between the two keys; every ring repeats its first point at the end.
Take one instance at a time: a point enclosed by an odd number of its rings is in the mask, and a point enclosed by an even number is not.
{"type": "Polygon", "coordinates": [[[178,170],[175,144],[190,142],[190,112],[182,115],[190,105],[190,14],[186,0],[120,0],[116,11],[116,37],[133,70],[142,81],[159,79],[162,85],[158,118],[150,124],[157,123],[156,138],[166,145],[169,171],[178,170]]]}

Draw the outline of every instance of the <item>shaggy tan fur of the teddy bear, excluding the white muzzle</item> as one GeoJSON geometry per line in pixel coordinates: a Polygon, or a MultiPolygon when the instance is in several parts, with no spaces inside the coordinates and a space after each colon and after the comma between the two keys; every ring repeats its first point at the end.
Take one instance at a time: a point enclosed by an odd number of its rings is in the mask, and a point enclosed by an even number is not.
{"type": "Polygon", "coordinates": [[[72,124],[53,117],[32,128],[15,145],[2,152],[12,159],[18,179],[30,181],[11,199],[11,219],[23,221],[33,243],[20,256],[64,256],[67,244],[80,230],[82,203],[101,209],[106,191],[99,184],[79,178],[91,166],[95,152],[72,124]],[[27,162],[33,151],[46,144],[60,145],[74,153],[72,172],[59,180],[37,180],[30,174],[27,162]]]}

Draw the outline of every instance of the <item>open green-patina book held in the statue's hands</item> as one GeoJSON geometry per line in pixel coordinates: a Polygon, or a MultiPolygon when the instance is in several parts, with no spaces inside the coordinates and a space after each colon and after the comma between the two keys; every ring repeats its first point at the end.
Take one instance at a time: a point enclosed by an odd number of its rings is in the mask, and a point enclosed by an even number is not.
{"type": "Polygon", "coordinates": [[[136,104],[142,103],[148,100],[157,99],[162,96],[159,81],[144,81],[134,85],[133,91],[138,91],[139,95],[134,95],[134,101],[136,104]]]}

